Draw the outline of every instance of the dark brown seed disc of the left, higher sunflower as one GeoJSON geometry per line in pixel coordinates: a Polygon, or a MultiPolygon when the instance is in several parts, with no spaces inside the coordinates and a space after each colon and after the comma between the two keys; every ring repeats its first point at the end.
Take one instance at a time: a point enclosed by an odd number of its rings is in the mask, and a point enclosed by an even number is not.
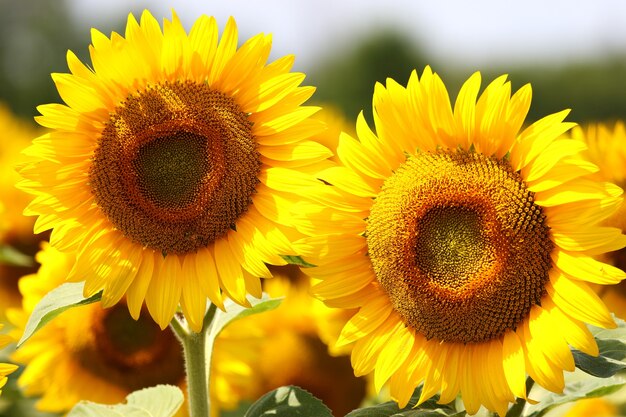
{"type": "Polygon", "coordinates": [[[232,98],[206,84],[165,82],[130,95],[111,114],[89,183],[126,237],[185,254],[236,224],[260,167],[252,123],[232,98]]]}

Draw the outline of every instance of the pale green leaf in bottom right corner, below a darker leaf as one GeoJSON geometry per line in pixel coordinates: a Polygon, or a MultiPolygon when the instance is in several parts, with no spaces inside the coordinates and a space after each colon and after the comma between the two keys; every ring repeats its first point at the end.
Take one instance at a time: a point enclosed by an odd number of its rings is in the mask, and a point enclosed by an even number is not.
{"type": "Polygon", "coordinates": [[[602,379],[593,378],[585,374],[580,375],[582,375],[583,379],[566,382],[563,394],[555,394],[544,390],[545,395],[541,398],[535,398],[533,395],[532,397],[539,400],[539,403],[527,405],[524,415],[526,417],[541,417],[559,405],[583,398],[603,397],[613,394],[626,385],[626,382],[618,377],[602,379]]]}

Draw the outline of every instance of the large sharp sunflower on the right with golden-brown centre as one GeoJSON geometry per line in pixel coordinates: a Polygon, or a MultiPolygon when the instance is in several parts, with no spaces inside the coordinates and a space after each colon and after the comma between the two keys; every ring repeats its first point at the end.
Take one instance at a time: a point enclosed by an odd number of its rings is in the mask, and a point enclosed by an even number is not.
{"type": "Polygon", "coordinates": [[[527,376],[563,390],[570,346],[598,354],[585,323],[615,323],[588,283],[624,272],[592,256],[626,240],[597,225],[622,190],[560,138],[568,112],[522,129],[530,86],[480,84],[475,73],[454,107],[428,67],[406,88],[377,84],[376,131],[361,114],[359,140],[340,137],[342,165],[319,174],[311,237],[295,247],[317,265],[305,270],[318,297],[359,309],[338,340],[354,343],[357,375],[374,372],[401,406],[423,384],[420,403],[460,392],[470,414],[504,415],[527,376]]]}

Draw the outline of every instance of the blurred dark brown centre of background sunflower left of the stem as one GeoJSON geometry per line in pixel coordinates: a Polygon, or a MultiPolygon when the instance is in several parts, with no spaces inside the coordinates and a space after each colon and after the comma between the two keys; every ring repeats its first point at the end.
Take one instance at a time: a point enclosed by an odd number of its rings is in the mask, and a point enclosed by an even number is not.
{"type": "Polygon", "coordinates": [[[147,311],[135,321],[124,303],[98,309],[91,330],[93,341],[79,357],[92,374],[129,391],[184,379],[179,342],[169,329],[161,331],[147,311]]]}

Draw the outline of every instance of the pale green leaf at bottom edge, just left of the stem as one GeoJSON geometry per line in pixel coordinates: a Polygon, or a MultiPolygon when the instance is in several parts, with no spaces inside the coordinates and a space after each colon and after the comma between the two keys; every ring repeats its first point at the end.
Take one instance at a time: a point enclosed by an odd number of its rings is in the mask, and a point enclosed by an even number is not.
{"type": "Polygon", "coordinates": [[[157,385],[129,394],[126,404],[103,405],[81,401],[67,417],[172,417],[183,400],[180,388],[157,385]]]}

